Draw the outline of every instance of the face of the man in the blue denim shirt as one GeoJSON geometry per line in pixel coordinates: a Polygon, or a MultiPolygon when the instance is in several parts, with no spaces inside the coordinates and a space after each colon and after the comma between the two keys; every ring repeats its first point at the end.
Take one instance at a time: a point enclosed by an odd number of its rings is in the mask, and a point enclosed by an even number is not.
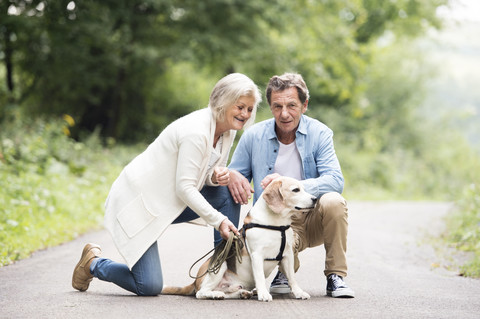
{"type": "Polygon", "coordinates": [[[277,135],[291,135],[297,130],[300,117],[307,110],[308,101],[302,104],[297,89],[272,92],[270,110],[275,117],[277,135]]]}

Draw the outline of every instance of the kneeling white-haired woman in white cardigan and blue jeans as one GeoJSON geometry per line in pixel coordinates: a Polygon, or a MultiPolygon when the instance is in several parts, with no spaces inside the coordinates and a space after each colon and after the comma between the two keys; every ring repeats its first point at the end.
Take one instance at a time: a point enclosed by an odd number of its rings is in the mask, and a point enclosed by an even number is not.
{"type": "Polygon", "coordinates": [[[105,205],[106,228],[126,265],[100,258],[100,247],[87,244],[73,288],[85,291],[97,277],[137,295],[158,295],[163,278],[157,239],[170,224],[201,217],[215,228],[216,243],[230,231],[238,234],[225,166],[236,131],[254,122],[260,101],[251,79],[229,74],[213,88],[207,108],[168,125],[133,159],[105,205]]]}

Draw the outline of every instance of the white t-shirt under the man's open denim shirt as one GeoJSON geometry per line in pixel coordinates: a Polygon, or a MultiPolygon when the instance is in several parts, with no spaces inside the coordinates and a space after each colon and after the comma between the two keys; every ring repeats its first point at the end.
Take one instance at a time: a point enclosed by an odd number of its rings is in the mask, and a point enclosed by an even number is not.
{"type": "Polygon", "coordinates": [[[295,142],[288,145],[278,142],[280,149],[278,150],[277,160],[275,161],[274,172],[282,176],[293,177],[302,180],[302,159],[295,142]]]}

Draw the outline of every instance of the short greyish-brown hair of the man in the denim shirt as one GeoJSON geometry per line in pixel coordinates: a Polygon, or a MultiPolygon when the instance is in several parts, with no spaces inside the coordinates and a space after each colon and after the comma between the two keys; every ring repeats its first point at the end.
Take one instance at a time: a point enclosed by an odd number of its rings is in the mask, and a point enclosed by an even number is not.
{"type": "Polygon", "coordinates": [[[284,73],[282,75],[274,75],[270,78],[270,81],[268,81],[265,92],[268,105],[271,105],[272,92],[281,92],[291,87],[297,89],[298,98],[303,104],[310,98],[307,85],[300,74],[284,73]]]}

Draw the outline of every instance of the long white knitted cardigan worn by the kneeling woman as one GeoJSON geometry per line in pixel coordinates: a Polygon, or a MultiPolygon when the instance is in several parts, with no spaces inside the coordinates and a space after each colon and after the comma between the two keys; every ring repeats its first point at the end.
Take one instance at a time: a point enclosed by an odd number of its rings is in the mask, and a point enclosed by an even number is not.
{"type": "Polygon", "coordinates": [[[208,169],[215,126],[209,108],[179,118],[113,183],[105,226],[130,269],[187,206],[215,229],[226,218],[199,192],[212,185],[215,166],[226,166],[236,134],[223,134],[221,157],[208,169]]]}

